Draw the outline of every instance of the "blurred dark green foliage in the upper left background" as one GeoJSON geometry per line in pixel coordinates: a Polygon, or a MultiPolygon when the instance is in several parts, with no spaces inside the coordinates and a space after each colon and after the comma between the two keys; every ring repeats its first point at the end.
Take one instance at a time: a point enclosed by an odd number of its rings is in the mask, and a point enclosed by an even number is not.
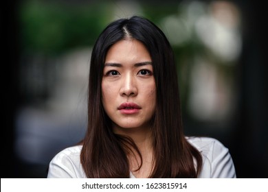
{"type": "Polygon", "coordinates": [[[92,45],[110,11],[107,3],[25,1],[20,16],[23,51],[54,55],[92,45]]]}

